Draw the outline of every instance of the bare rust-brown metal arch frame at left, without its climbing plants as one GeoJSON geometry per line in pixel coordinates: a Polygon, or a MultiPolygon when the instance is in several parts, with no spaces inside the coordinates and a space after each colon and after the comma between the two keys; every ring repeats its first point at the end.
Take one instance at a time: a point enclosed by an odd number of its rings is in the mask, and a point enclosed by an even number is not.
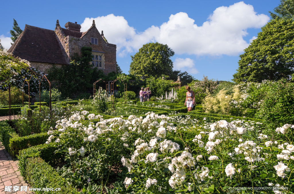
{"type": "MultiPolygon", "coordinates": [[[[49,95],[50,95],[50,99],[49,99],[49,104],[50,104],[50,117],[52,117],[52,107],[51,107],[51,82],[50,82],[50,80],[47,78],[47,76],[46,76],[46,75],[43,75],[43,76],[42,76],[42,75],[38,74],[37,72],[34,72],[33,70],[31,70],[30,68],[24,66],[23,64],[19,63],[19,62],[16,61],[16,60],[13,60],[13,59],[9,59],[9,60],[10,60],[10,61],[13,61],[13,62],[15,62],[15,63],[17,63],[17,64],[19,64],[19,65],[20,65],[21,67],[23,67],[24,69],[29,70],[30,72],[32,72],[32,74],[34,73],[35,75],[39,75],[39,76],[43,77],[42,80],[45,78],[45,79],[48,81],[48,83],[49,83],[49,95]]],[[[29,73],[29,74],[31,74],[31,73],[29,73]]],[[[27,76],[27,75],[29,75],[29,74],[26,74],[26,75],[24,75],[24,76],[27,76]]],[[[4,82],[4,81],[6,81],[6,80],[9,79],[9,77],[6,77],[6,76],[4,76],[4,75],[2,75],[2,74],[0,74],[0,76],[6,78],[5,80],[0,81],[0,83],[1,83],[1,82],[4,82]]],[[[21,77],[19,77],[18,79],[21,79],[21,78],[24,77],[24,76],[21,76],[21,77]]],[[[18,80],[18,79],[16,79],[16,80],[18,80]]],[[[42,81],[42,80],[41,80],[41,81],[42,81]]],[[[41,85],[41,83],[40,83],[40,81],[39,81],[39,94],[40,94],[40,85],[41,85]]],[[[9,91],[9,121],[11,121],[11,95],[10,95],[10,83],[8,84],[8,91],[9,91]]],[[[40,96],[41,96],[41,94],[40,94],[40,96]]],[[[41,97],[40,97],[40,98],[41,98],[41,97]]],[[[30,104],[29,104],[29,107],[30,107],[30,104]]],[[[41,100],[40,100],[40,110],[41,110],[41,100]]]]}

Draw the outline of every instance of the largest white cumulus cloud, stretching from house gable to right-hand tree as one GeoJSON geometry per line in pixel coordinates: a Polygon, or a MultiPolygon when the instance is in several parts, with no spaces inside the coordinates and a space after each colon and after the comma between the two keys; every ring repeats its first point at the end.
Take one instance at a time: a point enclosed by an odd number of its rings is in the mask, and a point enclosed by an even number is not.
{"type": "Polygon", "coordinates": [[[187,13],[180,12],[172,14],[161,26],[151,26],[138,32],[123,16],[109,14],[85,18],[81,31],[88,30],[93,19],[108,42],[117,45],[120,57],[137,52],[148,42],[167,44],[178,55],[238,55],[249,45],[243,39],[248,35],[247,29],[260,28],[270,20],[265,14],[257,14],[252,5],[243,1],[216,8],[201,26],[195,24],[187,13]]]}

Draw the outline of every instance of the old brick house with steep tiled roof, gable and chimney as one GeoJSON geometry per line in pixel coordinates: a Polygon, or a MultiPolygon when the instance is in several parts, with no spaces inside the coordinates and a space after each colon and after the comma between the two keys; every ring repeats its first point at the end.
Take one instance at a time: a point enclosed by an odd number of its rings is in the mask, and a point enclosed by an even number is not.
{"type": "Polygon", "coordinates": [[[71,22],[61,28],[58,20],[55,30],[26,25],[7,52],[26,59],[32,67],[46,73],[53,65],[69,65],[71,55],[81,55],[81,47],[88,46],[92,48],[93,67],[104,74],[116,72],[116,45],[107,42],[103,31],[99,33],[94,20],[86,32],[80,29],[81,25],[71,22]]]}

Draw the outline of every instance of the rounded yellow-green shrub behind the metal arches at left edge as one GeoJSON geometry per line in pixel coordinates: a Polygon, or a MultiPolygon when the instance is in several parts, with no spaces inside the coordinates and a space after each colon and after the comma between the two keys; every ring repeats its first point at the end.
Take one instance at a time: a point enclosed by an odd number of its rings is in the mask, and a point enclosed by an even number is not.
{"type": "MultiPolygon", "coordinates": [[[[11,104],[20,104],[22,103],[22,91],[17,87],[10,88],[11,104]]],[[[24,94],[24,101],[29,100],[29,95],[24,94]]],[[[8,105],[9,104],[9,91],[0,90],[0,104],[8,105]]]]}

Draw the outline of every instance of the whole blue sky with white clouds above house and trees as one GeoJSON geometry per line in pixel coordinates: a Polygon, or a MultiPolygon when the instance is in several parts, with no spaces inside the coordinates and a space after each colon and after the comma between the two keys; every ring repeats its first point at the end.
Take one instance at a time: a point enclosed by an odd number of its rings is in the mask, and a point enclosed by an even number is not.
{"type": "Polygon", "coordinates": [[[13,18],[25,24],[54,30],[77,22],[86,31],[96,27],[109,43],[117,45],[116,61],[128,74],[131,55],[148,42],[167,44],[175,51],[174,69],[195,79],[230,81],[239,55],[270,20],[268,11],[278,0],[248,1],[2,1],[0,39],[10,47],[13,18]]]}

